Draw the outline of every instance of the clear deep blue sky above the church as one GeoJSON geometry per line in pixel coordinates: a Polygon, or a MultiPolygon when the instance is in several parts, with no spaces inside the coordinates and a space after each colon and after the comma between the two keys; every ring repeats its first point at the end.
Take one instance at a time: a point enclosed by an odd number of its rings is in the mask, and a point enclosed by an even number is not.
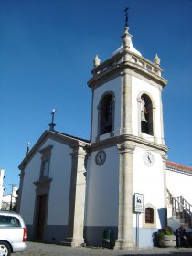
{"type": "MultiPolygon", "coordinates": [[[[130,7],[133,45],[161,59],[169,160],[192,164],[191,0],[0,0],[0,167],[5,185],[19,183],[18,165],[48,129],[90,138],[92,60],[121,45],[130,7]]],[[[191,166],[191,165],[190,165],[191,166]]],[[[9,186],[10,187],[10,186],[9,186]]],[[[7,192],[9,190],[7,187],[7,192]]]]}

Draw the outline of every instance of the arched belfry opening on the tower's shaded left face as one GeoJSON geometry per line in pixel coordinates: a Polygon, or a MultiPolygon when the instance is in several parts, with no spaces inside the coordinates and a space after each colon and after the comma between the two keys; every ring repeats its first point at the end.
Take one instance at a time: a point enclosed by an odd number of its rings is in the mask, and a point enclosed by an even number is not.
{"type": "Polygon", "coordinates": [[[114,129],[114,96],[107,93],[99,105],[99,135],[111,133],[114,129]]]}

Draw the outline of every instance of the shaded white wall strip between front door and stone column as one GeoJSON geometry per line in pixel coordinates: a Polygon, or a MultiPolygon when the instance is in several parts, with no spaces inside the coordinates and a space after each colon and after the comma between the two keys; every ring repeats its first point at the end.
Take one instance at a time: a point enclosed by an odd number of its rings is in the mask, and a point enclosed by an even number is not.
{"type": "Polygon", "coordinates": [[[69,187],[71,174],[71,148],[54,142],[49,177],[48,225],[64,225],[69,216],[69,187]]]}

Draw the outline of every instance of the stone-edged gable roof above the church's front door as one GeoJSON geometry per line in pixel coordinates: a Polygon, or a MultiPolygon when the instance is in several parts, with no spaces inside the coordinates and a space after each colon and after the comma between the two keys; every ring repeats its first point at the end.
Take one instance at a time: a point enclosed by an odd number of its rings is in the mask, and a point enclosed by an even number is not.
{"type": "Polygon", "coordinates": [[[66,133],[59,133],[57,131],[48,131],[46,130],[40,138],[37,140],[37,143],[31,148],[31,150],[28,152],[26,157],[23,159],[21,164],[18,166],[20,170],[25,168],[27,163],[30,161],[30,159],[33,157],[33,155],[37,152],[37,150],[41,147],[41,145],[47,140],[48,138],[53,139],[55,141],[58,141],[59,143],[67,144],[70,147],[75,146],[85,146],[87,144],[90,144],[89,140],[81,139],[79,137],[71,136],[66,133]]]}

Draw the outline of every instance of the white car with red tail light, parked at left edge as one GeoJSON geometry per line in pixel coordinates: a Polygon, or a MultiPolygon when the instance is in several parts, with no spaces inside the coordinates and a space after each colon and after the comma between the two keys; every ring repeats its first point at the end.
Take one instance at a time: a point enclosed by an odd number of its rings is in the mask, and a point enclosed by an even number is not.
{"type": "Polygon", "coordinates": [[[22,217],[13,211],[0,210],[0,256],[27,248],[27,229],[22,217]]]}

